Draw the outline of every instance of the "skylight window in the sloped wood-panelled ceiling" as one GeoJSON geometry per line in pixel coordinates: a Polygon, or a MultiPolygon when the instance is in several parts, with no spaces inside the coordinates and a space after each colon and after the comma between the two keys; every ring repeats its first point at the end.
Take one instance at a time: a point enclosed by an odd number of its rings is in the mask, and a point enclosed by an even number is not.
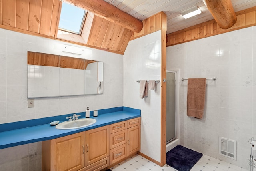
{"type": "Polygon", "coordinates": [[[81,34],[85,16],[85,10],[62,2],[59,29],[66,32],[81,34]]]}

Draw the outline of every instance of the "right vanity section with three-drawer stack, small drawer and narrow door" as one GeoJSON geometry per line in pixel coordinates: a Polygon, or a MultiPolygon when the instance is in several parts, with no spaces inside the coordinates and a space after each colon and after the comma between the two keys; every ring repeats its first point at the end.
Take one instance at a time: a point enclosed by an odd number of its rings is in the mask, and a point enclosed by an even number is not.
{"type": "Polygon", "coordinates": [[[110,125],[110,165],[140,150],[140,117],[110,125]]]}

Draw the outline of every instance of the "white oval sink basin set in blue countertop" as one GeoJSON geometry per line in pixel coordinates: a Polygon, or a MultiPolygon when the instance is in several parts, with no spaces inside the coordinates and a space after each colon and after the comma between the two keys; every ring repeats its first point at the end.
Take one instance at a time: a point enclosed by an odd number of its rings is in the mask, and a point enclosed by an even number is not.
{"type": "Polygon", "coordinates": [[[82,118],[74,121],[65,121],[56,125],[57,129],[77,129],[82,127],[87,127],[96,122],[96,119],[92,118],[82,118]]]}

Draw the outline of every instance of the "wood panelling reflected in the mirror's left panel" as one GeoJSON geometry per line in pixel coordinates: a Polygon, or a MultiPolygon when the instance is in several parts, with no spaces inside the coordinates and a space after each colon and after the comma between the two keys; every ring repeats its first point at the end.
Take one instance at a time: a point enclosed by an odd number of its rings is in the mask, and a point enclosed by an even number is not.
{"type": "Polygon", "coordinates": [[[60,67],[60,56],[28,51],[28,64],[60,67]]]}

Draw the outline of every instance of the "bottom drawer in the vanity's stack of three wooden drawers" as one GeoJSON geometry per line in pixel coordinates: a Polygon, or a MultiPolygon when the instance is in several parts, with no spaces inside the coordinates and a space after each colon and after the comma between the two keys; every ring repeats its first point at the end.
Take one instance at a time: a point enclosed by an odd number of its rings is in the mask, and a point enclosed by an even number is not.
{"type": "Polygon", "coordinates": [[[120,145],[110,150],[110,165],[124,159],[127,156],[127,144],[120,145]]]}

